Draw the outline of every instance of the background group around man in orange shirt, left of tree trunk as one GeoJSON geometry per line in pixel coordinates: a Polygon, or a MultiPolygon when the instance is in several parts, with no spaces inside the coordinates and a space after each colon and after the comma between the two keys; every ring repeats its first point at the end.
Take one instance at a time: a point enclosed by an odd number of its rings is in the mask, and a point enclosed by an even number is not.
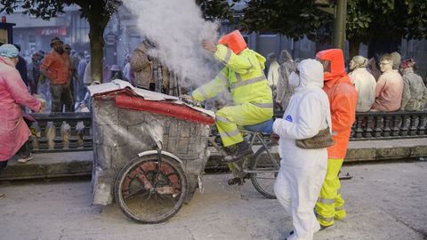
{"type": "MultiPolygon", "coordinates": [[[[45,112],[78,111],[77,107],[85,100],[85,83],[92,83],[91,56],[72,50],[59,37],[52,38],[51,47],[50,52],[35,51],[29,60],[20,60],[26,69],[20,71],[20,76],[32,94],[46,100],[45,112]]],[[[103,81],[108,81],[109,76],[110,69],[104,68],[103,81]]]]}

